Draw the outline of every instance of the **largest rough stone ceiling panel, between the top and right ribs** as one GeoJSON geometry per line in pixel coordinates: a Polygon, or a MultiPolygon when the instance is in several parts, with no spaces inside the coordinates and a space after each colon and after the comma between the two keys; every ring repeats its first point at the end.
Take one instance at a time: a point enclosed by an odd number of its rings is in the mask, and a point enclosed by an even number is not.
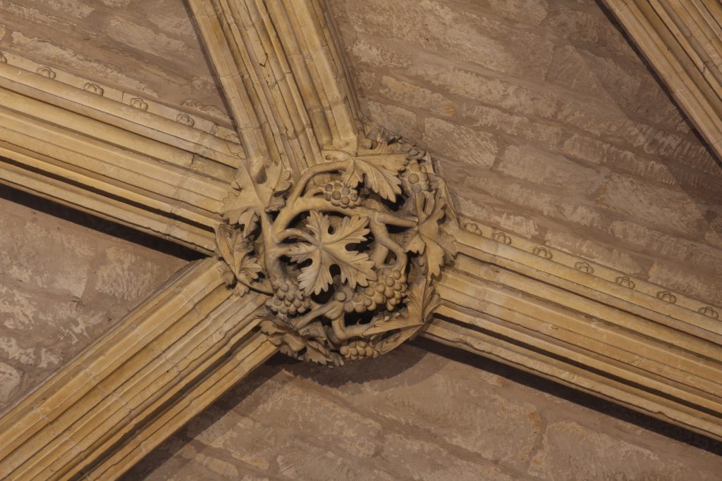
{"type": "Polygon", "coordinates": [[[593,0],[329,0],[461,213],[722,304],[722,167],[593,0]]]}

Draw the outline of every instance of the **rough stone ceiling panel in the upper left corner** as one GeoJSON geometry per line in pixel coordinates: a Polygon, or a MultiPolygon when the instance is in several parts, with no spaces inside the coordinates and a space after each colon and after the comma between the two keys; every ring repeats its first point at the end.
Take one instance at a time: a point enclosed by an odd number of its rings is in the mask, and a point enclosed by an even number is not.
{"type": "Polygon", "coordinates": [[[183,0],[0,0],[0,50],[227,120],[183,0]]]}

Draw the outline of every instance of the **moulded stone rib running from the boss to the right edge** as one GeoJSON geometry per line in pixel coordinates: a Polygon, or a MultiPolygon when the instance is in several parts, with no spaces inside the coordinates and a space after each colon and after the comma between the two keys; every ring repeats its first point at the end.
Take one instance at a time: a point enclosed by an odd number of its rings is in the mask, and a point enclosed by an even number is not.
{"type": "Polygon", "coordinates": [[[717,319],[505,242],[457,241],[425,337],[722,439],[717,319]]]}

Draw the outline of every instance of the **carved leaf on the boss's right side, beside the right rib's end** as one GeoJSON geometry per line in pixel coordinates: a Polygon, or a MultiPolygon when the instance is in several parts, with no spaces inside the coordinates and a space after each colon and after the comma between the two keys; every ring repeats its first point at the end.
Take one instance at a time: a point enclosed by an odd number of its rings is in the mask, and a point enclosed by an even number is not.
{"type": "Polygon", "coordinates": [[[404,242],[404,252],[425,254],[428,275],[435,278],[441,274],[444,263],[456,255],[456,239],[443,231],[440,225],[445,216],[445,198],[424,193],[419,204],[422,208],[418,213],[418,229],[404,242]]]}

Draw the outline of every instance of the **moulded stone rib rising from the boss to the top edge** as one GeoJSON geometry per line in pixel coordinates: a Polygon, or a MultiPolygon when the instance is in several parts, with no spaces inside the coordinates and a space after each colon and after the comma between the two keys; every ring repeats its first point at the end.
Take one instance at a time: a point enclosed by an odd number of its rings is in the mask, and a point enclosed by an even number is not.
{"type": "Polygon", "coordinates": [[[318,0],[189,0],[243,140],[251,173],[295,174],[321,149],[355,150],[354,92],[318,0]]]}

